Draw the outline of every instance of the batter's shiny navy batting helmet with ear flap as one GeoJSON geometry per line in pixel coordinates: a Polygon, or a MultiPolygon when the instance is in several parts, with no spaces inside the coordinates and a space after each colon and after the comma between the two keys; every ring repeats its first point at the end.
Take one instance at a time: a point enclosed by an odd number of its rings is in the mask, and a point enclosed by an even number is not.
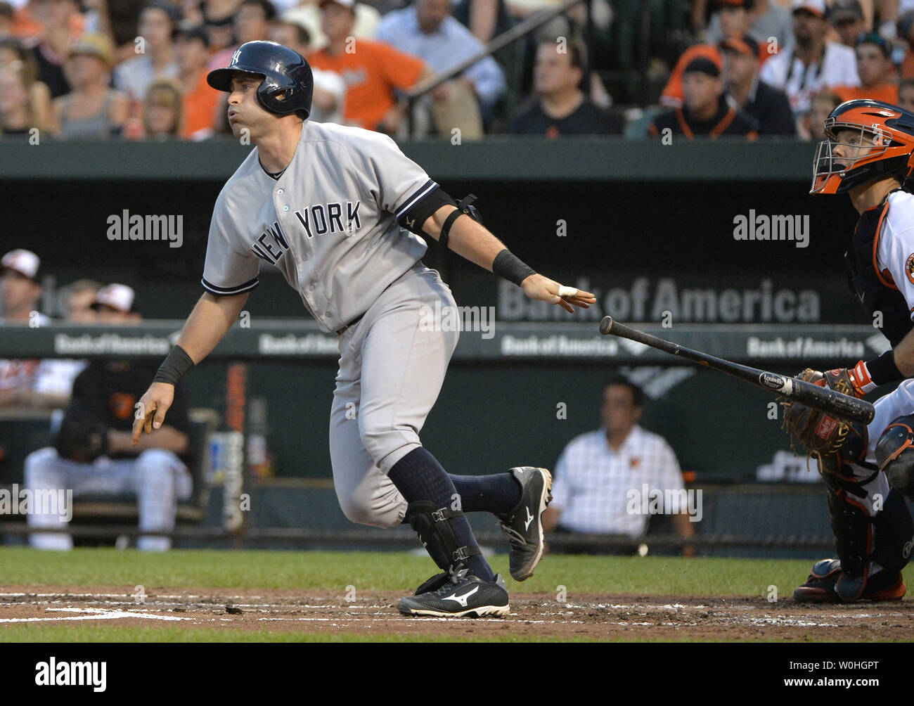
{"type": "Polygon", "coordinates": [[[236,71],[263,77],[257,100],[266,110],[281,115],[302,111],[303,118],[311,114],[314,76],[308,62],[294,49],[276,42],[247,42],[235,50],[225,69],[207,74],[207,83],[217,91],[231,91],[236,71]]]}

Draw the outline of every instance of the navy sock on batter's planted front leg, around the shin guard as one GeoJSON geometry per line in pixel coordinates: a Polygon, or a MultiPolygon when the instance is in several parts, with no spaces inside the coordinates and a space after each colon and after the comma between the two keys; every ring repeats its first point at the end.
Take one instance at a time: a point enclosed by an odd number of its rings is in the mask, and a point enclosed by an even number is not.
{"type": "MultiPolygon", "coordinates": [[[[429,500],[439,508],[451,508],[457,489],[438,460],[425,448],[413,449],[403,456],[388,473],[390,481],[397,487],[408,503],[416,500],[429,500]]],[[[515,484],[516,485],[516,484],[515,484]]],[[[453,518],[451,527],[460,546],[477,547],[473,530],[465,517],[453,518]]],[[[489,562],[482,556],[472,556],[466,560],[467,568],[483,579],[494,581],[495,576],[489,562]]]]}

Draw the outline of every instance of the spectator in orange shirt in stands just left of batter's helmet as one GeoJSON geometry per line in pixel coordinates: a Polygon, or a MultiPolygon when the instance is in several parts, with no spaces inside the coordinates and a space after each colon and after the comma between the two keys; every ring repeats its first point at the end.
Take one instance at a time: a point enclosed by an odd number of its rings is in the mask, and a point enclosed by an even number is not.
{"type": "Polygon", "coordinates": [[[176,30],[175,57],[183,94],[181,136],[188,140],[205,140],[214,132],[221,97],[207,83],[209,36],[206,30],[203,27],[176,30]]]}

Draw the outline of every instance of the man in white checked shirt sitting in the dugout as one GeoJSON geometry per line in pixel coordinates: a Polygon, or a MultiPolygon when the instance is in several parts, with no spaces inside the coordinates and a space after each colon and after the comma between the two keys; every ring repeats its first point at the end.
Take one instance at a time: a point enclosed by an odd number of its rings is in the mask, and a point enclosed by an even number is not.
{"type": "MultiPolygon", "coordinates": [[[[686,497],[682,473],[664,438],[638,425],[642,412],[637,385],[622,377],[606,383],[601,428],[572,439],[558,459],[552,503],[543,514],[545,530],[637,540],[650,519],[651,512],[644,511],[648,497],[662,497],[659,508],[672,515],[676,533],[684,540],[695,534],[687,504],[674,499],[666,507],[667,499],[686,497]]],[[[686,546],[683,554],[692,553],[686,546]]]]}

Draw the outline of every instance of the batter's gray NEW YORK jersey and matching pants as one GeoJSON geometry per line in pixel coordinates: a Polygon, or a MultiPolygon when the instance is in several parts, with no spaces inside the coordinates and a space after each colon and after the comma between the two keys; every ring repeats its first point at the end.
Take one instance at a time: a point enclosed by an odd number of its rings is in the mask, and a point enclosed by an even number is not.
{"type": "Polygon", "coordinates": [[[425,241],[397,222],[436,188],[387,135],[305,122],[278,179],[251,151],[219,194],[209,230],[207,291],[247,292],[260,262],[270,262],[339,336],[330,418],[336,494],[346,517],[376,527],[406,514],[386,474],[421,445],[459,336],[420,326],[423,307],[455,304],[420,262],[425,241]]]}

